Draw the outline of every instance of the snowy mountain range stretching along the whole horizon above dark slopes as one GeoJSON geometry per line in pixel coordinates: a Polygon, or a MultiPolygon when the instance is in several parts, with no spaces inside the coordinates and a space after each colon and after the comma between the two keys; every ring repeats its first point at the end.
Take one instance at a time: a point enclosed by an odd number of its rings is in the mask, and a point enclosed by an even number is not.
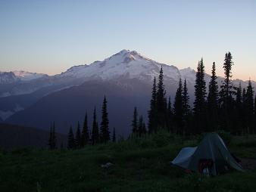
{"type": "MultiPolygon", "coordinates": [[[[142,56],[136,51],[124,49],[105,60],[74,66],[66,72],[55,76],[24,71],[0,73],[0,86],[3,84],[12,84],[11,86],[5,86],[5,88],[0,87],[0,98],[11,95],[31,94],[41,88],[52,86],[58,87],[56,88],[58,90],[74,85],[81,85],[83,82],[93,79],[135,78],[145,82],[151,82],[154,76],[158,76],[161,66],[164,69],[164,79],[167,83],[176,84],[181,78],[186,79],[188,84],[194,85],[195,70],[191,68],[179,70],[173,65],[158,63],[155,60],[142,56]]],[[[205,80],[208,83],[210,76],[206,74],[205,80]]],[[[218,81],[221,82],[222,79],[219,78],[218,81]]]]}

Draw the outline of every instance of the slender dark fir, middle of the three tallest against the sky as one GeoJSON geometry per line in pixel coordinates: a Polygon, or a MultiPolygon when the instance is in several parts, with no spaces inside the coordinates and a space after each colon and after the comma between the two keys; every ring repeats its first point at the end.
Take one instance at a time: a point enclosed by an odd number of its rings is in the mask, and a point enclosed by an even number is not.
{"type": "Polygon", "coordinates": [[[207,98],[208,105],[208,131],[212,132],[217,129],[218,113],[218,85],[216,76],[215,62],[212,65],[211,81],[209,83],[209,93],[207,98]]]}

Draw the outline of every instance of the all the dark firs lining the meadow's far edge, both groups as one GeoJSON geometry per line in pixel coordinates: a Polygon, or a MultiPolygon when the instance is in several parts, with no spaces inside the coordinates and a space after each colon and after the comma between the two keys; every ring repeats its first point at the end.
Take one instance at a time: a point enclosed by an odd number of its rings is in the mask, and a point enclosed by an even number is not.
{"type": "MultiPolygon", "coordinates": [[[[233,85],[232,67],[233,57],[230,52],[225,54],[223,70],[225,79],[222,85],[217,83],[216,66],[212,64],[211,81],[207,85],[204,79],[204,61],[198,61],[195,76],[195,101],[189,105],[189,93],[186,79],[180,79],[173,104],[167,98],[164,88],[164,71],[161,67],[158,82],[153,80],[151,101],[148,110],[148,126],[143,116],[139,116],[137,108],[133,111],[130,138],[142,137],[145,134],[154,134],[167,131],[178,135],[197,135],[202,132],[223,130],[234,135],[256,133],[256,96],[251,80],[248,86],[242,88],[233,85]]],[[[68,133],[67,148],[76,149],[88,144],[107,143],[116,141],[115,129],[112,138],[109,131],[107,99],[104,97],[101,107],[101,124],[98,127],[96,108],[92,119],[92,131],[88,126],[87,113],[81,131],[80,122],[77,122],[76,132],[72,126],[68,133]]],[[[56,148],[55,123],[51,126],[48,145],[56,148]]]]}

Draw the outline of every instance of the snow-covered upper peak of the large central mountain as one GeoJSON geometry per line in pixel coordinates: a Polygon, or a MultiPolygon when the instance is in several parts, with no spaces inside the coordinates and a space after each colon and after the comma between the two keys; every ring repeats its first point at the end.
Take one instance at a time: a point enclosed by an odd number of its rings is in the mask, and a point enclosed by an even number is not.
{"type": "Polygon", "coordinates": [[[163,66],[164,75],[170,79],[179,79],[178,68],[158,63],[155,60],[143,57],[136,51],[122,50],[103,61],[95,61],[90,65],[71,67],[60,76],[73,76],[88,79],[117,79],[125,77],[128,79],[149,80],[158,76],[160,67],[163,66]]]}

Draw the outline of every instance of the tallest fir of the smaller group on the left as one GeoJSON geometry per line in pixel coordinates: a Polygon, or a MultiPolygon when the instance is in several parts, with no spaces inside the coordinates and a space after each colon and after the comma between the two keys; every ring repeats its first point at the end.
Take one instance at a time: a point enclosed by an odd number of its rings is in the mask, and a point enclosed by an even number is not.
{"type": "Polygon", "coordinates": [[[108,129],[108,110],[107,110],[107,99],[104,96],[102,110],[101,110],[101,142],[107,143],[110,141],[108,129]]]}

